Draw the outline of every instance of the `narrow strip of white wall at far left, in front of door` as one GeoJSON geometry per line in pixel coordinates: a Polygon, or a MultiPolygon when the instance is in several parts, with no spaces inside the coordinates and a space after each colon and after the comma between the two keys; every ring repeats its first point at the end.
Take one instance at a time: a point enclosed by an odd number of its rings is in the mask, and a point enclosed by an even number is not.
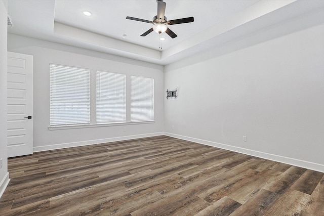
{"type": "Polygon", "coordinates": [[[7,0],[0,1],[0,197],[8,181],[7,163],[7,0]]]}

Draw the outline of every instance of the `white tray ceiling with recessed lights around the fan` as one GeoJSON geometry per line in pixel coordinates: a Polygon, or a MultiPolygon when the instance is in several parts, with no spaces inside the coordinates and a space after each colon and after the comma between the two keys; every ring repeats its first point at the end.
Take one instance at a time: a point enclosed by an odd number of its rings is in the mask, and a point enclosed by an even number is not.
{"type": "Polygon", "coordinates": [[[178,37],[172,39],[163,33],[166,40],[162,50],[158,33],[140,36],[152,24],[126,19],[131,16],[152,20],[157,13],[156,0],[9,0],[8,14],[13,26],[8,26],[8,32],[167,65],[324,8],[323,0],[164,2],[168,20],[193,16],[194,22],[169,26],[178,37]],[[83,15],[83,11],[90,11],[92,16],[83,15]]]}

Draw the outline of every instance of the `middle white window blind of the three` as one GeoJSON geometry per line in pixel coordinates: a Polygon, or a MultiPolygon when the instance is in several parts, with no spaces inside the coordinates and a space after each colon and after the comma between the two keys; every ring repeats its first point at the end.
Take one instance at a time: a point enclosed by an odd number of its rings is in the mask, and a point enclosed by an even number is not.
{"type": "Polygon", "coordinates": [[[126,75],[97,71],[97,123],[126,121],[126,75]]]}

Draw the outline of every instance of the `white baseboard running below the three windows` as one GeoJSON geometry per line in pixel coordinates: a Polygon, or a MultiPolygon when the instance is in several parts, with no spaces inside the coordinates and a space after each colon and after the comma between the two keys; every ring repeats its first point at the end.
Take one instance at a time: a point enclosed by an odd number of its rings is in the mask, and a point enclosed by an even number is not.
{"type": "Polygon", "coordinates": [[[94,145],[94,144],[110,143],[110,142],[123,141],[123,140],[133,140],[133,139],[155,137],[155,136],[161,136],[161,135],[164,135],[164,132],[132,135],[132,136],[125,136],[125,137],[113,137],[113,138],[106,138],[106,139],[99,139],[99,140],[88,140],[88,141],[80,141],[80,142],[72,142],[72,143],[61,143],[61,144],[54,144],[54,145],[47,145],[47,146],[35,146],[35,147],[33,147],[33,152],[64,149],[64,148],[71,148],[71,147],[77,147],[77,146],[88,146],[88,145],[94,145]]]}

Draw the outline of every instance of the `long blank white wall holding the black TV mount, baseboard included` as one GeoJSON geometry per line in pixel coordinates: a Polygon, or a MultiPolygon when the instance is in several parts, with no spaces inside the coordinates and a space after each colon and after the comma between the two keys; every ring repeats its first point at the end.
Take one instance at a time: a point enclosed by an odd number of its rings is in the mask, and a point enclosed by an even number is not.
{"type": "Polygon", "coordinates": [[[165,132],[324,171],[324,24],[209,53],[165,67],[165,132]]]}

